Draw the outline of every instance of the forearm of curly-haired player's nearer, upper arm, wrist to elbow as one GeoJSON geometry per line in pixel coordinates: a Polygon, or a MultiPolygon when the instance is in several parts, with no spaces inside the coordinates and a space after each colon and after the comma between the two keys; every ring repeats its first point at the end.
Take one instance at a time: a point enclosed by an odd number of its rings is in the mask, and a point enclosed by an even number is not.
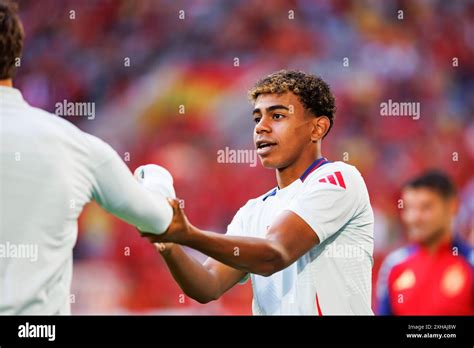
{"type": "Polygon", "coordinates": [[[245,273],[268,276],[287,267],[285,253],[264,238],[226,236],[191,226],[183,244],[245,273]]]}

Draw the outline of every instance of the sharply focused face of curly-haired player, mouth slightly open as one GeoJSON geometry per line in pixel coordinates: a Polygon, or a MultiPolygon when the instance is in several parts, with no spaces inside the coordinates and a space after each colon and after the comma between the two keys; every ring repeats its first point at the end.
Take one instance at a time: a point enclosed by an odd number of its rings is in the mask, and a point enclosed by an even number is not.
{"type": "Polygon", "coordinates": [[[293,93],[259,95],[253,117],[257,154],[266,168],[286,168],[306,149],[314,147],[311,142],[314,117],[293,93]]]}

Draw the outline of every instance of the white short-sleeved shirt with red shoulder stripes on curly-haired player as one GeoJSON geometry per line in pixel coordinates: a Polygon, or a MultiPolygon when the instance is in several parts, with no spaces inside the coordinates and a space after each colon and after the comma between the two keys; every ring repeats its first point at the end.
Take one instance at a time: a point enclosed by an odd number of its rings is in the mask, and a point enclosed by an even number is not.
{"type": "Polygon", "coordinates": [[[251,275],[253,313],[372,315],[374,217],[359,171],[320,158],[289,186],[249,200],[227,234],[265,238],[283,210],[306,221],[320,244],[269,277],[251,275]]]}

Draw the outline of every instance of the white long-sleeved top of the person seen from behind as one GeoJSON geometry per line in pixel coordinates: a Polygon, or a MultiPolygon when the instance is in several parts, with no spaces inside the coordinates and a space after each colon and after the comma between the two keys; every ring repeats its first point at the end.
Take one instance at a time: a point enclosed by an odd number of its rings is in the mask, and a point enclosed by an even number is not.
{"type": "Polygon", "coordinates": [[[95,199],[161,233],[164,197],[135,180],[102,140],[0,87],[0,314],[68,314],[77,219],[95,199]]]}

